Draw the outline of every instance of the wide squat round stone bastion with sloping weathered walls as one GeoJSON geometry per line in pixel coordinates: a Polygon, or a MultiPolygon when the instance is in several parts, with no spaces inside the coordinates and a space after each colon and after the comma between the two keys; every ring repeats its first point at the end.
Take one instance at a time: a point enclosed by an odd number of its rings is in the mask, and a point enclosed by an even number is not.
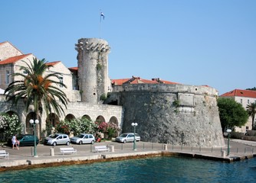
{"type": "Polygon", "coordinates": [[[132,123],[142,140],[185,146],[225,146],[218,116],[217,91],[190,85],[123,85],[110,96],[123,105],[123,132],[132,123]],[[117,92],[119,91],[119,92],[117,92]]]}

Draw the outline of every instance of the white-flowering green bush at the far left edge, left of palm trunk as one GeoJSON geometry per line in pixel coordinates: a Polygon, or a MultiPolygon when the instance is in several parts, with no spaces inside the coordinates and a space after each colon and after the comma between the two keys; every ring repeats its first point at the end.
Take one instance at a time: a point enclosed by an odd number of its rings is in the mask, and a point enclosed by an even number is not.
{"type": "Polygon", "coordinates": [[[21,130],[21,122],[16,114],[12,114],[11,117],[8,114],[0,115],[1,140],[6,141],[8,137],[21,133],[21,130]]]}

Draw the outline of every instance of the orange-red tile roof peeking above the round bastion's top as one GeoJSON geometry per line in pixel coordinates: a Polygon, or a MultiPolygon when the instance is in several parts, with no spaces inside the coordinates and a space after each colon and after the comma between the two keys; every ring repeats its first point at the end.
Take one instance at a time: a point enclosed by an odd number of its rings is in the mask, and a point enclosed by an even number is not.
{"type": "Polygon", "coordinates": [[[168,82],[168,81],[163,81],[159,79],[141,79],[140,77],[133,76],[131,79],[112,79],[111,80],[113,85],[123,85],[126,83],[130,84],[140,84],[140,83],[145,83],[145,84],[159,84],[159,83],[164,83],[164,84],[178,84],[177,82],[168,82]]]}

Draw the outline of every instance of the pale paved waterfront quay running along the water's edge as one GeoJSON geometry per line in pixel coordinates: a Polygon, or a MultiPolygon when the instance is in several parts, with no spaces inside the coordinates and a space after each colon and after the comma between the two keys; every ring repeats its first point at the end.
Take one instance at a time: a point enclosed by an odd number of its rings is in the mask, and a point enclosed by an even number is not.
{"type": "MultiPolygon", "coordinates": [[[[227,144],[227,140],[225,140],[227,144]]],[[[91,144],[71,144],[70,146],[45,146],[36,148],[38,157],[34,157],[34,146],[21,146],[12,149],[2,146],[9,152],[9,157],[0,157],[0,172],[14,169],[31,169],[52,165],[71,165],[90,162],[103,162],[123,159],[145,158],[149,156],[188,156],[199,159],[212,159],[222,162],[234,162],[256,157],[256,142],[246,140],[230,140],[228,147],[203,148],[193,146],[172,146],[172,144],[137,142],[136,150],[133,143],[102,142],[91,144]],[[95,146],[109,146],[110,152],[95,152],[95,146]],[[62,155],[61,147],[74,147],[77,153],[62,155]]]]}

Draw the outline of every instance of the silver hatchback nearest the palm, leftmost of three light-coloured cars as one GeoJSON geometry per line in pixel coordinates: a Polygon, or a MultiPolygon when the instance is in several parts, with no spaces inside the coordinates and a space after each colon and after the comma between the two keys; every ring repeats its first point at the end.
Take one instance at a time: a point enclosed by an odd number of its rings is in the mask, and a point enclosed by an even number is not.
{"type": "Polygon", "coordinates": [[[44,144],[52,145],[52,146],[61,145],[61,144],[66,144],[67,146],[69,146],[70,143],[71,143],[70,138],[66,134],[61,134],[61,133],[51,134],[50,136],[44,139],[44,144]]]}

